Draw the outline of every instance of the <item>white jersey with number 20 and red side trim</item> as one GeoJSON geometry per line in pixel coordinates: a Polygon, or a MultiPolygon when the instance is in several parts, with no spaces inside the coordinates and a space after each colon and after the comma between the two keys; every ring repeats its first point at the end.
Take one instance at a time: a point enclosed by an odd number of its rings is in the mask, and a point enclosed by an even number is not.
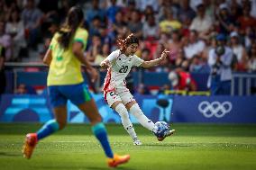
{"type": "Polygon", "coordinates": [[[120,90],[126,89],[125,77],[133,66],[139,67],[144,61],[136,55],[126,57],[124,54],[121,54],[120,49],[114,50],[107,57],[107,60],[110,62],[110,67],[107,69],[105,76],[103,89],[105,93],[111,91],[120,92],[120,90]]]}

